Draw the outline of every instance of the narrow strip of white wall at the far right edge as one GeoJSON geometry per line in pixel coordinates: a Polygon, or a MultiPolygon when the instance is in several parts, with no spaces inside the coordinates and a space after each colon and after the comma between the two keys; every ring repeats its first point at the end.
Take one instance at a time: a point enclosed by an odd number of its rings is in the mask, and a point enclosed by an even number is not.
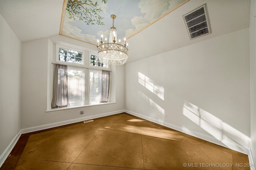
{"type": "Polygon", "coordinates": [[[251,78],[251,149],[256,162],[256,1],[251,1],[250,15],[250,78],[251,78]]]}

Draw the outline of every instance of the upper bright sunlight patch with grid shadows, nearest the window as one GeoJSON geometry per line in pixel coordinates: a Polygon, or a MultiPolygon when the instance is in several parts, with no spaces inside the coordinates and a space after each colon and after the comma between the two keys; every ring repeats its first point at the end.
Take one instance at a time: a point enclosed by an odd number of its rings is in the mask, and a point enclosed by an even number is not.
{"type": "Polygon", "coordinates": [[[150,92],[156,94],[160,99],[164,100],[164,88],[157,84],[154,84],[154,81],[144,74],[138,72],[138,82],[147,88],[150,92]]]}

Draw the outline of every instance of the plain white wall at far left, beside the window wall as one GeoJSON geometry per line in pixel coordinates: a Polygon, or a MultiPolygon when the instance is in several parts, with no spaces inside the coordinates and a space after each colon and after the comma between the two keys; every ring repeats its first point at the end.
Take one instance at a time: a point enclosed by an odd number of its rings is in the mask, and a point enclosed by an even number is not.
{"type": "Polygon", "coordinates": [[[20,130],[21,49],[22,44],[0,15],[0,165],[20,130]]]}

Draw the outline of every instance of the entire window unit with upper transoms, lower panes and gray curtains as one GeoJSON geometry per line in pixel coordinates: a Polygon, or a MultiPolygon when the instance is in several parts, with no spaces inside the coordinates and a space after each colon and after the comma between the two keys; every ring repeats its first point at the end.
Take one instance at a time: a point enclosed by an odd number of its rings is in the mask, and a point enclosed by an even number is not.
{"type": "Polygon", "coordinates": [[[77,49],[56,45],[52,108],[108,102],[110,71],[107,62],[100,61],[97,55],[88,51],[77,49]],[[66,69],[63,75],[60,72],[62,66],[66,69]]]}

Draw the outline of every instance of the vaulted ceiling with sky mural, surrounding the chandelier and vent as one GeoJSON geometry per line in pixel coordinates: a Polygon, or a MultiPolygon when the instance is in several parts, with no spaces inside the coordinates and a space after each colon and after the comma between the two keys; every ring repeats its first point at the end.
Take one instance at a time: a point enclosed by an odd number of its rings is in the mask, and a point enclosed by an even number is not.
{"type": "Polygon", "coordinates": [[[68,18],[66,4],[67,0],[0,0],[0,14],[21,42],[62,34],[95,45],[101,33],[108,36],[110,14],[115,14],[118,39],[128,38],[128,63],[248,28],[250,23],[250,0],[107,0],[97,5],[104,25],[68,18]],[[203,4],[212,33],[190,40],[182,16],[203,4]]]}

